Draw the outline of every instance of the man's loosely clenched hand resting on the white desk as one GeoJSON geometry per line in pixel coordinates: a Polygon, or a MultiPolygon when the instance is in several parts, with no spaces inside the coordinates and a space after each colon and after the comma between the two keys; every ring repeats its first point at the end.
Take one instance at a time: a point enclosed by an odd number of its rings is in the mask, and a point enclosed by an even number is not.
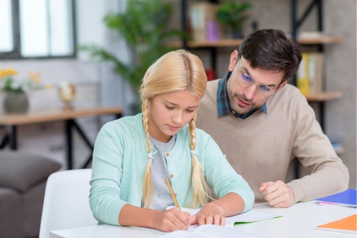
{"type": "Polygon", "coordinates": [[[283,181],[262,183],[259,192],[272,207],[290,207],[295,204],[295,196],[292,188],[283,181]]]}

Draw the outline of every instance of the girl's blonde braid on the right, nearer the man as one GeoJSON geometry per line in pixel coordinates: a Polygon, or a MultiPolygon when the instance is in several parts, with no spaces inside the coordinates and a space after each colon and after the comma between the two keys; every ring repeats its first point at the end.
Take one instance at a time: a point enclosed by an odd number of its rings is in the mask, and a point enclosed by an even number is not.
{"type": "Polygon", "coordinates": [[[194,151],[196,148],[196,115],[188,123],[188,131],[190,132],[190,147],[192,157],[192,200],[189,203],[190,207],[198,207],[202,204],[205,205],[210,198],[210,191],[205,182],[205,176],[200,161],[198,161],[194,151]],[[193,152],[193,153],[192,153],[193,152]]]}

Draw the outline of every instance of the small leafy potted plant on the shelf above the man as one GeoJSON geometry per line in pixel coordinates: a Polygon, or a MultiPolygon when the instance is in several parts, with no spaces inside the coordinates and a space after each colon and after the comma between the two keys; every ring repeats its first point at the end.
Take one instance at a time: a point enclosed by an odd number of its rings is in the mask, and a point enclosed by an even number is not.
{"type": "Polygon", "coordinates": [[[248,18],[246,12],[252,7],[253,5],[250,3],[225,0],[218,7],[217,19],[223,26],[228,26],[232,30],[233,38],[243,38],[242,27],[248,18]]]}

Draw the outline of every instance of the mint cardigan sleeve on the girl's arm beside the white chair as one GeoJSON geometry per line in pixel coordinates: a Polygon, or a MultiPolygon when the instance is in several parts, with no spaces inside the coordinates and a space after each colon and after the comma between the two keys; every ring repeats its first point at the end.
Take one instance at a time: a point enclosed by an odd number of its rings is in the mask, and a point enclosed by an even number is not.
{"type": "Polygon", "coordinates": [[[120,199],[124,148],[113,125],[104,125],[95,141],[89,203],[97,221],[120,226],[119,212],[127,203],[120,199]]]}

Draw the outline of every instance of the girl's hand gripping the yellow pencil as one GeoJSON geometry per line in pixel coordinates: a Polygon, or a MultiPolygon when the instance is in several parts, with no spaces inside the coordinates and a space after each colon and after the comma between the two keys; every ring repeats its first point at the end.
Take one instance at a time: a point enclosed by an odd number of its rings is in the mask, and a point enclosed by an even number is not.
{"type": "Polygon", "coordinates": [[[190,216],[190,213],[181,212],[176,207],[170,210],[163,210],[154,217],[153,228],[164,232],[187,230],[190,226],[190,216]]]}

